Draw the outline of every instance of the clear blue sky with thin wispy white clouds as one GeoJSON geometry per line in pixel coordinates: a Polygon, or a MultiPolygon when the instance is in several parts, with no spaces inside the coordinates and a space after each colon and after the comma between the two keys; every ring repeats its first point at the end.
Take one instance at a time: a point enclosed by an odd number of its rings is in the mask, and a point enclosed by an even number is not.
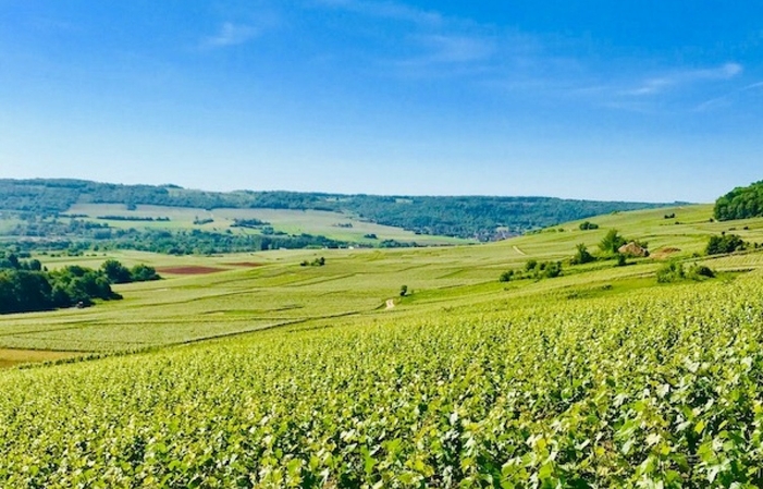
{"type": "Polygon", "coordinates": [[[0,178],[713,201],[758,1],[0,0],[0,178]]]}

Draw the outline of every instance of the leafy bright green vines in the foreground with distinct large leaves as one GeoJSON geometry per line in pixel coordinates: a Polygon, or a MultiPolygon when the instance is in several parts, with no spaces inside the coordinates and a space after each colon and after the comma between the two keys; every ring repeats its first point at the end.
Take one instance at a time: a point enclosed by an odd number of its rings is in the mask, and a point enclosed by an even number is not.
{"type": "Polygon", "coordinates": [[[760,487],[762,295],[752,272],[9,370],[0,486],[760,487]]]}

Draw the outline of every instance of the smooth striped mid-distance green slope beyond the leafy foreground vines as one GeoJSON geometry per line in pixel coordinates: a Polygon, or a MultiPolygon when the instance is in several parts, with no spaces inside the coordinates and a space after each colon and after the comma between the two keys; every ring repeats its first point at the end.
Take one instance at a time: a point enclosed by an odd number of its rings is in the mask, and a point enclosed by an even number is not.
{"type": "MultiPolygon", "coordinates": [[[[731,227],[751,241],[763,241],[763,219],[710,223],[710,206],[657,209],[590,219],[601,225],[580,231],[541,232],[501,243],[435,248],[274,250],[211,257],[110,252],[127,266],[148,264],[165,277],[159,282],[119,285],[123,301],[88,309],[4,316],[0,347],[54,351],[132,351],[242,334],[275,327],[311,328],[317,323],[393,317],[416,317],[513,297],[551,294],[570,298],[608,295],[653,286],[659,259],[640,259],[615,268],[612,261],[567,267],[553,280],[500,283],[502,271],[521,268],[529,258],[564,260],[577,243],[591,250],[616,227],[630,239],[648,241],[653,252],[686,260],[701,252],[707,236],[731,227]],[[676,212],[686,224],[663,218],[676,212]],[[742,231],[742,227],[749,231],[742,231]],[[327,258],[324,267],[300,267],[303,260],[327,258]],[[180,274],[183,267],[209,267],[208,274],[180,274]],[[168,271],[169,270],[169,271],[168,271]],[[398,292],[407,285],[411,295],[398,292]],[[397,307],[384,304],[395,299],[397,307]]],[[[39,258],[49,268],[79,264],[97,268],[103,254],[39,258]]],[[[697,259],[700,260],[700,259],[697,259]]],[[[763,254],[703,257],[721,271],[761,268],[763,254]]]]}

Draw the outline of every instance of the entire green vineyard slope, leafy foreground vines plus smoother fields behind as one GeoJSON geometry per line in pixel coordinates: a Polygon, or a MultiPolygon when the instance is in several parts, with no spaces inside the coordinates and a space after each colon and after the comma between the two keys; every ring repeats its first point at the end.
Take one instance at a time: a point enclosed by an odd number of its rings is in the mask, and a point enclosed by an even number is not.
{"type": "Polygon", "coordinates": [[[701,254],[723,231],[763,242],[763,219],[711,213],[458,247],[110,253],[165,279],[2,317],[0,360],[106,358],[0,371],[0,486],[760,487],[763,252],[701,254]],[[652,258],[497,281],[613,228],[652,258]],[[668,258],[718,276],[659,284],[668,258]]]}

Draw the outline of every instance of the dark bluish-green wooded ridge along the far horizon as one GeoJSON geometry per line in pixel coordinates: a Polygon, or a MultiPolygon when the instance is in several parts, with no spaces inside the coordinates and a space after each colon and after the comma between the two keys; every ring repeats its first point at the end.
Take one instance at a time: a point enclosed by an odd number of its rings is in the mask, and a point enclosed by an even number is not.
{"type": "Polygon", "coordinates": [[[156,205],[201,209],[337,211],[419,234],[490,241],[615,211],[661,204],[552,197],[377,196],[298,192],[205,192],[177,185],[121,185],[84,180],[0,180],[0,209],[56,216],[75,204],[156,205]]]}

